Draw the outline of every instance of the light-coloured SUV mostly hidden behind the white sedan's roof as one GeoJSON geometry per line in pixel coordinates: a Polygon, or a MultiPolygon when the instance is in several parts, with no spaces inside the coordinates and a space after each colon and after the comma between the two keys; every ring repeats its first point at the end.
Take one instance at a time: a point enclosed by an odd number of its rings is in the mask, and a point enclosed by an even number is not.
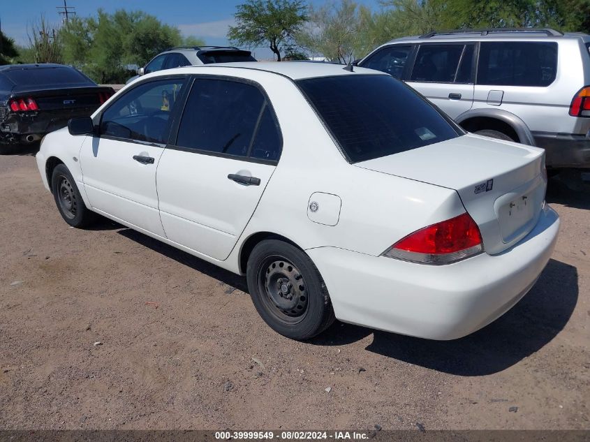
{"type": "Polygon", "coordinates": [[[256,61],[250,51],[233,46],[191,46],[172,47],[156,55],[143,68],[138,69],[138,75],[131,77],[132,82],[141,75],[163,71],[164,69],[180,68],[182,66],[202,66],[212,63],[234,63],[235,61],[256,61]]]}

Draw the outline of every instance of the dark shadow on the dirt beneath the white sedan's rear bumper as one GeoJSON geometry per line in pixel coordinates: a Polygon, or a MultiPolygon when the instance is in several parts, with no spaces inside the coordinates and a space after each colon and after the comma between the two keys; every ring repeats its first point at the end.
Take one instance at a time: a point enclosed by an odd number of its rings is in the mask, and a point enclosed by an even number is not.
{"type": "Polygon", "coordinates": [[[336,323],[312,343],[348,344],[372,332],[368,351],[449,374],[484,376],[507,369],[548,344],[568,323],[577,297],[576,268],[550,260],[514,308],[462,339],[429,341],[336,323]]]}

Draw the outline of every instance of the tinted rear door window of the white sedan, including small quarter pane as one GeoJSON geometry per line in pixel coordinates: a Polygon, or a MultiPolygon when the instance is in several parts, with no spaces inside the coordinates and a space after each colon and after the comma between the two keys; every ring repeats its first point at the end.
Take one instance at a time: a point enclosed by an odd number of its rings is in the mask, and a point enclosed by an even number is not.
{"type": "Polygon", "coordinates": [[[180,121],[176,145],[215,154],[279,159],[281,144],[265,96],[252,84],[198,79],[180,121]]]}

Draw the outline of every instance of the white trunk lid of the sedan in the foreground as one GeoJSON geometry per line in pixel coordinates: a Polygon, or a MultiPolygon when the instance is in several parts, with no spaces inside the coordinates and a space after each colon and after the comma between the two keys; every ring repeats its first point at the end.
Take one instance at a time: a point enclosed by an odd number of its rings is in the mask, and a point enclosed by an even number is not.
{"type": "Polygon", "coordinates": [[[536,225],[547,189],[544,157],[537,147],[469,134],[355,165],[454,189],[494,254],[536,225]]]}

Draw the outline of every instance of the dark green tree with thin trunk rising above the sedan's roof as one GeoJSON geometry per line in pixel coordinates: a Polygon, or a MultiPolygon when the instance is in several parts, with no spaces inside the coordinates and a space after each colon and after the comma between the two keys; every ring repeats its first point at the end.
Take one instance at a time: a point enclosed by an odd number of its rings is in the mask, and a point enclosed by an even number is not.
{"type": "Polygon", "coordinates": [[[237,45],[267,44],[281,61],[281,50],[293,44],[307,18],[302,0],[247,0],[237,6],[236,25],[230,27],[228,38],[237,45]]]}

